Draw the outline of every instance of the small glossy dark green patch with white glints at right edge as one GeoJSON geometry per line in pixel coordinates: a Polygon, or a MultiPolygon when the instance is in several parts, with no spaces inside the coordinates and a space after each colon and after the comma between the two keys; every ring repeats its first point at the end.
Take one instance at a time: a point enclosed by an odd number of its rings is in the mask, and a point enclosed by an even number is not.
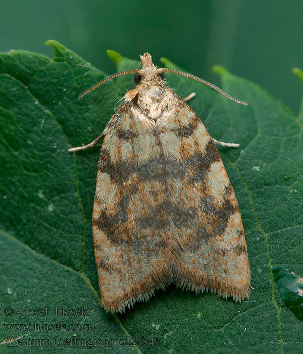
{"type": "Polygon", "coordinates": [[[285,306],[303,321],[303,278],[280,265],[273,267],[273,274],[285,306]]]}

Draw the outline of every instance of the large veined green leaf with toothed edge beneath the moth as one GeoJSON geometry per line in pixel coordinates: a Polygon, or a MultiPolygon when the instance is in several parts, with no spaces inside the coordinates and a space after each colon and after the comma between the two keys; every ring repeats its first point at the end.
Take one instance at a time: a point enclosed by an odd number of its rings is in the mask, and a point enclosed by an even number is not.
{"type": "MultiPolygon", "coordinates": [[[[244,351],[231,348],[278,353],[301,347],[303,324],[284,306],[272,273],[272,266],[281,264],[303,274],[301,120],[258,85],[226,70],[220,71],[222,89],[248,107],[167,73],[166,81],[178,95],[196,93],[189,105],[215,139],[240,144],[239,149],[219,151],[239,202],[254,290],[249,301],[235,303],[172,285],[124,315],[107,315],[100,306],[91,234],[100,146],[74,154],[67,149],[100,135],[135,84],[132,75],[121,76],[77,101],[106,74],[60,43],[48,43],[55,48],[53,60],[25,51],[0,55],[0,316],[6,324],[87,323],[92,331],[9,331],[1,326],[0,351],[41,350],[4,345],[8,337],[21,337],[50,339],[52,345],[43,346],[49,353],[56,348],[120,353],[132,349],[118,344],[128,335],[148,340],[134,347],[144,354],[244,351]],[[14,315],[4,314],[7,306],[14,315]],[[24,308],[45,306],[52,311],[55,306],[85,306],[88,315],[22,318],[24,308]],[[56,336],[71,340],[75,334],[113,339],[114,347],[55,347],[56,336]]],[[[138,61],[112,54],[117,71],[140,67],[138,61]]]]}

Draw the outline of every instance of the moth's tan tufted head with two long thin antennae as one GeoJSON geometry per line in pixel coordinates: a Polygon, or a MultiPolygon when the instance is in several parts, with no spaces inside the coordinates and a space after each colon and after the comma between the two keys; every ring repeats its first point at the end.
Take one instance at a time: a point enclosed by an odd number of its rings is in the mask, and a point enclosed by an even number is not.
{"type": "Polygon", "coordinates": [[[118,72],[114,75],[111,75],[109,77],[107,77],[106,79],[97,82],[96,84],[94,84],[93,86],[89,87],[89,89],[85,90],[79,97],[78,100],[80,100],[84,95],[86,95],[87,93],[89,93],[90,91],[94,90],[96,87],[98,87],[99,85],[103,84],[106,81],[109,81],[117,76],[121,76],[121,75],[125,75],[125,74],[132,74],[134,73],[134,81],[137,85],[141,85],[141,86],[150,86],[150,85],[158,85],[158,86],[164,86],[165,84],[165,73],[164,71],[169,71],[172,72],[174,74],[179,74],[179,75],[183,75],[185,77],[189,77],[192,78],[194,80],[197,80],[199,82],[202,82],[210,87],[212,87],[212,89],[218,91],[221,95],[227,97],[228,99],[239,103],[240,105],[243,106],[248,106],[248,103],[243,102],[241,100],[235,99],[231,96],[229,96],[228,94],[226,94],[223,90],[219,89],[219,87],[217,87],[216,85],[214,85],[211,82],[208,82],[204,79],[200,79],[197,76],[188,74],[187,72],[182,72],[182,71],[177,71],[174,69],[168,69],[168,68],[160,68],[157,69],[157,67],[154,65],[153,60],[151,59],[151,55],[149,53],[144,53],[143,55],[140,55],[140,59],[141,59],[141,69],[133,69],[133,70],[126,70],[123,72],[118,72]]]}

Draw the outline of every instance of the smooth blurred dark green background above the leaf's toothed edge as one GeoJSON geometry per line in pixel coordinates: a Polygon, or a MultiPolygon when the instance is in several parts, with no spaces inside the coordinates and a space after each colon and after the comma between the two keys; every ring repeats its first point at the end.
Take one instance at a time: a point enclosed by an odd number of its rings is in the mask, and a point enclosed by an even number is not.
{"type": "Polygon", "coordinates": [[[53,57],[56,39],[99,69],[115,66],[106,50],[138,59],[148,51],[220,84],[221,64],[255,81],[298,112],[303,67],[302,0],[10,0],[0,1],[0,52],[53,57]]]}

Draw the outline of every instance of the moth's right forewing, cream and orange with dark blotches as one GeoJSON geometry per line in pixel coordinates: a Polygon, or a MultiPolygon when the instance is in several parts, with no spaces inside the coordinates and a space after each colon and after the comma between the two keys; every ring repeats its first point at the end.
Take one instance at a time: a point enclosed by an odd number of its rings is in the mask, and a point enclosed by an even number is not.
{"type": "Polygon", "coordinates": [[[250,268],[238,202],[204,124],[188,106],[182,110],[191,117],[185,126],[192,127],[183,144],[193,149],[182,153],[187,169],[183,183],[174,186],[174,202],[192,217],[186,229],[185,220],[178,225],[183,252],[174,281],[196,293],[206,290],[241,301],[249,298],[250,268]]]}

